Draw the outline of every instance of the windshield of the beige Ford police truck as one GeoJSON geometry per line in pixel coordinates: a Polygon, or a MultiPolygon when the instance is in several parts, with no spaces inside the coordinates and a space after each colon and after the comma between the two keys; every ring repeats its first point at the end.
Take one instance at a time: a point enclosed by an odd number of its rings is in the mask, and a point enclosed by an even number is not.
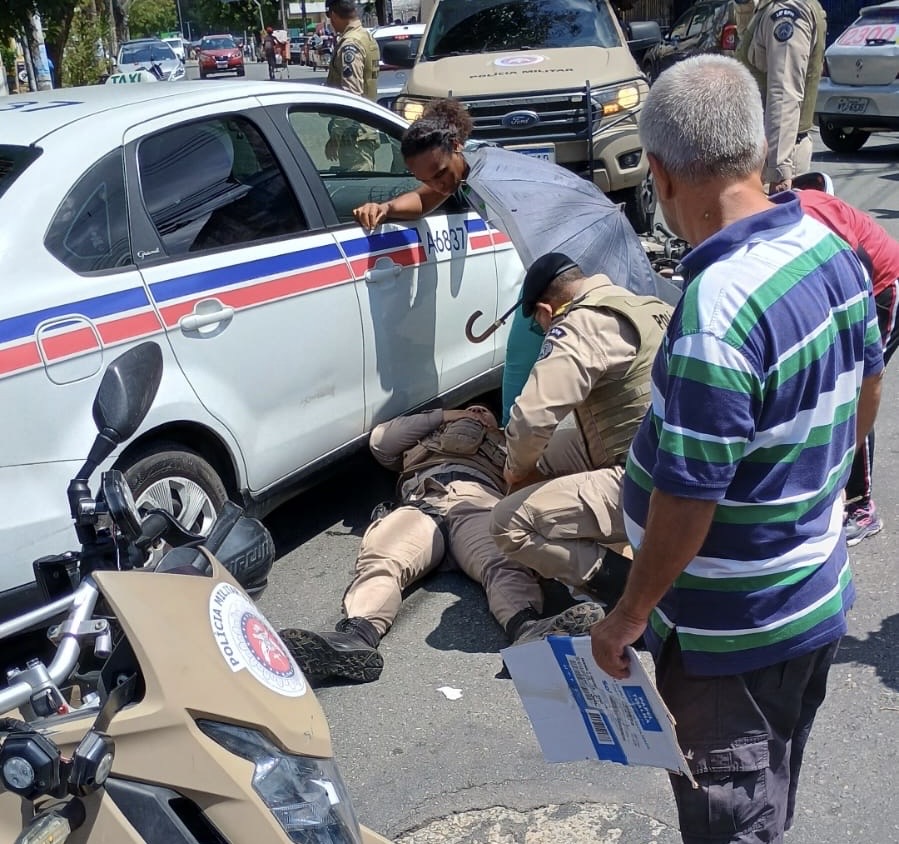
{"type": "Polygon", "coordinates": [[[437,5],[421,60],[584,46],[621,46],[605,0],[467,0],[437,5]]]}

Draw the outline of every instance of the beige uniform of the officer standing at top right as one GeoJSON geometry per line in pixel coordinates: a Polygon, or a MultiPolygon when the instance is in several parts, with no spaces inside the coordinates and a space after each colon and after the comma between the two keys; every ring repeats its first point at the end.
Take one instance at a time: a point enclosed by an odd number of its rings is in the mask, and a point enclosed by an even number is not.
{"type": "Polygon", "coordinates": [[[827,17],[818,0],[761,0],[737,47],[765,104],[768,159],[776,183],[811,169],[815,98],[824,62],[827,17]]]}

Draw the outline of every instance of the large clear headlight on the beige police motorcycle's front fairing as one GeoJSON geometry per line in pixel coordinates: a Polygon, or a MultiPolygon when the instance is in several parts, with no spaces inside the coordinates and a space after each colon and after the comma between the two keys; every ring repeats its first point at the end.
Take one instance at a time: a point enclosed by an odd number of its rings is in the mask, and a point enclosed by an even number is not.
{"type": "Polygon", "coordinates": [[[252,762],[253,788],[291,841],[361,844],[359,821],[333,759],[294,756],[262,733],[233,724],[198,720],[216,744],[252,762]]]}

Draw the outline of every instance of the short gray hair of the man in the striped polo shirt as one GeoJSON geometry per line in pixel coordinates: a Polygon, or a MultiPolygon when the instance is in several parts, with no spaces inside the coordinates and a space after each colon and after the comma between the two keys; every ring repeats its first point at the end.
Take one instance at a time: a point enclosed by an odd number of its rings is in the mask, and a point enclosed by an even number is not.
{"type": "Polygon", "coordinates": [[[640,140],[679,179],[740,179],[760,172],[766,146],[758,85],[736,59],[685,59],[649,89],[640,140]]]}

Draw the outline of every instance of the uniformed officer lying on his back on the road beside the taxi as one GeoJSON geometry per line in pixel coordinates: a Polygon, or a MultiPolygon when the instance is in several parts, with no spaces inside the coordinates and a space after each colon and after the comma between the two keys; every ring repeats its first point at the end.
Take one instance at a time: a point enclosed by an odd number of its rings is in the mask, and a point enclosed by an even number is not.
{"type": "Polygon", "coordinates": [[[378,462],[400,473],[402,503],[365,532],[343,598],[346,617],[335,632],[281,631],[307,676],[377,680],[384,665],[378,644],[399,612],[403,589],[444,557],[483,584],[490,611],[516,644],[587,633],[603,617],[598,604],[583,603],[541,618],[537,577],[497,550],[490,514],[505,486],[506,449],[487,408],[401,416],[375,428],[370,445],[378,462]]]}

